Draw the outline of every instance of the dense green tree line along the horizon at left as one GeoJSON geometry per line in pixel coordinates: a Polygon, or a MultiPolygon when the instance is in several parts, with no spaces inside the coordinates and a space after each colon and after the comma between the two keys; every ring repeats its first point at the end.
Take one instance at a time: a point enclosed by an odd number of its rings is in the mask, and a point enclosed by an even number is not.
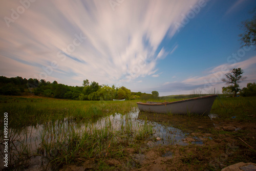
{"type": "MultiPolygon", "coordinates": [[[[156,96],[153,94],[141,92],[131,92],[131,90],[114,85],[100,85],[98,82],[83,80],[82,86],[67,86],[57,81],[38,80],[36,78],[0,76],[0,94],[1,95],[26,95],[32,93],[36,96],[52,97],[59,99],[72,100],[112,100],[112,99],[139,99],[143,96],[156,96]]],[[[158,92],[157,92],[158,96],[158,92]]]]}

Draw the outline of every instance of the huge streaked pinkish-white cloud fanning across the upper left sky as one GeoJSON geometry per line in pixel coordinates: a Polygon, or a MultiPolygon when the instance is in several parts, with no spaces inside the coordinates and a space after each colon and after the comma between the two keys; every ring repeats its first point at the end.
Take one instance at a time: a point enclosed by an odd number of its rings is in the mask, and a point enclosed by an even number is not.
{"type": "MultiPolygon", "coordinates": [[[[36,1],[9,28],[5,20],[0,22],[0,55],[7,62],[13,61],[8,63],[10,68],[22,71],[3,71],[5,64],[1,62],[1,74],[39,76],[45,72],[42,67],[49,69],[54,61],[57,67],[52,67],[47,80],[65,80],[65,71],[71,76],[69,84],[74,85],[86,78],[115,83],[127,75],[131,79],[156,77],[157,60],[177,48],[166,52],[160,47],[161,41],[165,35],[172,37],[176,33],[174,22],[196,3],[197,0],[124,1],[113,11],[108,1],[101,0],[36,1]],[[86,39],[79,41],[77,35],[86,39]],[[157,54],[158,48],[162,50],[157,54]],[[24,65],[20,60],[30,64],[24,65]]],[[[11,9],[18,6],[18,1],[1,2],[1,17],[11,18],[11,9]]]]}

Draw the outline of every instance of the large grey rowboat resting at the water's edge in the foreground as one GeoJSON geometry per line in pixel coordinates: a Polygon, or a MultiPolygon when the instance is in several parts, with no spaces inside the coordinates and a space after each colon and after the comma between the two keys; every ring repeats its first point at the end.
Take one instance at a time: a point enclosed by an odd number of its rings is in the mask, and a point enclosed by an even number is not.
{"type": "Polygon", "coordinates": [[[186,100],[164,103],[137,102],[140,111],[172,114],[209,114],[217,95],[202,96],[186,100]]]}

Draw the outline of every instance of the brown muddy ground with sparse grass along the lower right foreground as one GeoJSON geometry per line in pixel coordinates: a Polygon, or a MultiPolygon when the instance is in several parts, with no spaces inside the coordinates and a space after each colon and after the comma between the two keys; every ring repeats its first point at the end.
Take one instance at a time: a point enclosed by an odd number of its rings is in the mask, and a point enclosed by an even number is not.
{"type": "MultiPolygon", "coordinates": [[[[251,116],[254,120],[255,115],[251,116]]],[[[208,132],[190,133],[188,145],[154,145],[147,140],[140,148],[123,149],[120,158],[80,159],[60,170],[221,170],[238,162],[256,163],[256,124],[248,121],[213,121],[208,132]],[[201,140],[196,143],[195,137],[201,140]]]]}

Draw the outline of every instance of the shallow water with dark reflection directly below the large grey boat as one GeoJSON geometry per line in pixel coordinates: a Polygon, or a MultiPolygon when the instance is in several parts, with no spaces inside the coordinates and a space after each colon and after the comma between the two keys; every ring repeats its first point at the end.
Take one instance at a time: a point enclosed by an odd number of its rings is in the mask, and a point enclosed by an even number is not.
{"type": "MultiPolygon", "coordinates": [[[[154,126],[155,134],[153,136],[154,138],[160,138],[155,142],[156,145],[187,145],[188,143],[183,140],[190,133],[198,130],[207,132],[210,127],[214,127],[208,116],[139,112],[138,119],[147,120],[154,126]]],[[[203,144],[198,137],[194,137],[194,139],[195,141],[191,143],[203,144]]]]}

